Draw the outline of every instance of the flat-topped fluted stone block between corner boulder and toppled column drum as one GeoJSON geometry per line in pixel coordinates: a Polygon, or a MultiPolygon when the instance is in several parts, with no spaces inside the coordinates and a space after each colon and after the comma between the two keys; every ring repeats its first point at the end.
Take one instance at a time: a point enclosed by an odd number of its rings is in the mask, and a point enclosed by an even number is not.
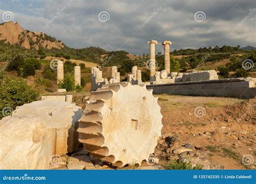
{"type": "Polygon", "coordinates": [[[35,101],[17,107],[12,116],[41,117],[52,139],[52,155],[63,155],[78,148],[78,121],[83,111],[69,102],[35,101]]]}

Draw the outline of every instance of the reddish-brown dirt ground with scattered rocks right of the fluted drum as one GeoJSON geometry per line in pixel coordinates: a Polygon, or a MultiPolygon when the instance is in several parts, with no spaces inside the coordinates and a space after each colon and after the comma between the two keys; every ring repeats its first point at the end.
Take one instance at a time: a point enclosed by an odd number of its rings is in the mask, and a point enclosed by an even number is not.
{"type": "Polygon", "coordinates": [[[164,125],[155,150],[160,164],[186,158],[203,169],[255,169],[242,158],[256,157],[256,98],[156,96],[164,125]],[[173,154],[186,147],[192,151],[173,154]]]}

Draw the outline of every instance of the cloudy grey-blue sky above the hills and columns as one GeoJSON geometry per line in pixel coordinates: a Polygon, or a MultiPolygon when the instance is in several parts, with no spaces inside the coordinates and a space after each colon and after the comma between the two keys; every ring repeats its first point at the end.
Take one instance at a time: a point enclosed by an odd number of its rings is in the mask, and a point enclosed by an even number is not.
{"type": "Polygon", "coordinates": [[[0,22],[45,32],[67,46],[149,52],[147,41],[171,40],[171,50],[215,45],[256,47],[255,0],[0,1],[0,22]],[[12,15],[11,15],[12,16],[12,15]]]}

